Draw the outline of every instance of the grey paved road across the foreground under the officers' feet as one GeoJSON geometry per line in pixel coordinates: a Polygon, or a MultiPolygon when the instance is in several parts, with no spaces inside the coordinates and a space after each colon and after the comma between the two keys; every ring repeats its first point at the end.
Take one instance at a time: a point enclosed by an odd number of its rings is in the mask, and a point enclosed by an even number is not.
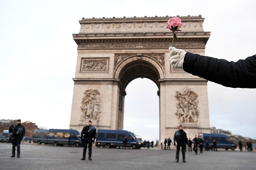
{"type": "Polygon", "coordinates": [[[80,160],[81,147],[22,144],[21,158],[10,158],[11,149],[10,143],[0,143],[0,170],[256,170],[255,151],[187,151],[187,163],[176,163],[175,149],[93,147],[93,161],[80,160]]]}

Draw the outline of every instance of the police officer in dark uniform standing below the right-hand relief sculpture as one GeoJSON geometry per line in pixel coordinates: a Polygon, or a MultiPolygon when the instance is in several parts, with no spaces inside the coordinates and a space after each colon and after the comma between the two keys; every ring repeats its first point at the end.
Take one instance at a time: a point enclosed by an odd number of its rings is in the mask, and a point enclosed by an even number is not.
{"type": "Polygon", "coordinates": [[[176,146],[175,142],[177,141],[177,149],[176,149],[176,162],[179,161],[179,153],[180,149],[182,149],[182,159],[183,162],[185,161],[185,152],[186,152],[186,145],[187,145],[187,134],[183,131],[182,125],[179,126],[179,130],[175,132],[173,138],[173,144],[176,146]]]}

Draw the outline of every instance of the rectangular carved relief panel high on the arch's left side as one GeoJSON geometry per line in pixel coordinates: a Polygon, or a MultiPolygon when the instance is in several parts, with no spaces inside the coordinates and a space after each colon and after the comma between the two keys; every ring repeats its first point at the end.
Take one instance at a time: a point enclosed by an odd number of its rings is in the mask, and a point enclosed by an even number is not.
{"type": "Polygon", "coordinates": [[[81,71],[108,71],[108,59],[82,58],[81,71]]]}

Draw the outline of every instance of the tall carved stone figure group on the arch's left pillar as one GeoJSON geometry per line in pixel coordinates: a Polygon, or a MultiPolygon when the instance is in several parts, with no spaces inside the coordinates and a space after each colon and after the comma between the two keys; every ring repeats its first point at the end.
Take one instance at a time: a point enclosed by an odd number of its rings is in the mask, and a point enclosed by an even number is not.
{"type": "Polygon", "coordinates": [[[97,90],[88,89],[84,92],[84,97],[81,102],[81,118],[84,122],[87,119],[99,121],[100,119],[100,93],[97,90]]]}

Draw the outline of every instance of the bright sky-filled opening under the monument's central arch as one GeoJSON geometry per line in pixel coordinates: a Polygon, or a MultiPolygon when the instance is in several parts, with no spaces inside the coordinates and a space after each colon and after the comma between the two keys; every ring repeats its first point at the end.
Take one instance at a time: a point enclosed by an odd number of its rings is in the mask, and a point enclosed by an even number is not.
{"type": "Polygon", "coordinates": [[[132,80],[125,88],[124,130],[142,140],[159,140],[159,88],[147,78],[132,80]]]}

